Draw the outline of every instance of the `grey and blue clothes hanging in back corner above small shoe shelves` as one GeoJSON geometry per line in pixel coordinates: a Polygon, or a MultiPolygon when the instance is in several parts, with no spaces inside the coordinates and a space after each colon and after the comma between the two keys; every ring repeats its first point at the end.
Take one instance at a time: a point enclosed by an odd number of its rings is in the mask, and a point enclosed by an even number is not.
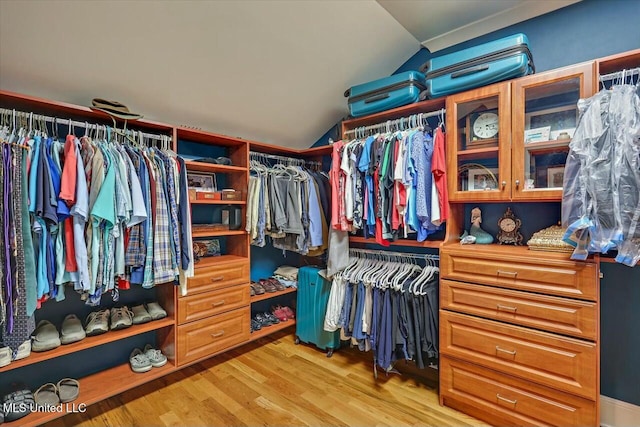
{"type": "Polygon", "coordinates": [[[320,255],[329,243],[328,177],[299,165],[297,159],[252,154],[247,194],[246,231],[251,244],[303,255],[320,255]],[[274,158],[277,163],[268,164],[274,158]]]}

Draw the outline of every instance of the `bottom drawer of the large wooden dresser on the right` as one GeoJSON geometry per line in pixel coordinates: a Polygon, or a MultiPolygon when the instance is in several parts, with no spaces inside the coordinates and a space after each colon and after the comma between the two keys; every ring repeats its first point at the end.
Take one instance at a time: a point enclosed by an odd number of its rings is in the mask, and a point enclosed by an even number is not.
{"type": "Polygon", "coordinates": [[[598,425],[594,401],[448,357],[440,372],[443,403],[493,425],[598,425]]]}

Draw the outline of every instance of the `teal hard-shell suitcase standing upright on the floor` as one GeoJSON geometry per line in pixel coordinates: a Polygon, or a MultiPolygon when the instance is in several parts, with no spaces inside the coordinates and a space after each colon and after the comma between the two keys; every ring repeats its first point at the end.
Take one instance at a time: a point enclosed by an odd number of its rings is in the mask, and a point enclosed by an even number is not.
{"type": "Polygon", "coordinates": [[[320,268],[304,266],[298,270],[298,295],[296,304],[296,344],[300,341],[315,344],[327,350],[340,347],[340,332],[324,330],[324,317],[329,302],[331,282],[318,274],[320,268]]]}

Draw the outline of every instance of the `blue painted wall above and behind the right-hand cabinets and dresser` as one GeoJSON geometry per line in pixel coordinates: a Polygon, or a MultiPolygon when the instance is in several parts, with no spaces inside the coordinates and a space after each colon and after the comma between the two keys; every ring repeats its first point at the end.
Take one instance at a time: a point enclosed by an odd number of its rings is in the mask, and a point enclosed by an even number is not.
{"type": "MultiPolygon", "coordinates": [[[[432,57],[514,33],[524,33],[529,38],[538,72],[637,49],[640,48],[640,1],[583,0],[435,54],[421,49],[400,66],[396,73],[417,70],[432,57]]],[[[326,145],[329,137],[339,139],[338,133],[339,130],[334,126],[314,146],[326,145]]],[[[503,205],[486,204],[482,207],[483,213],[486,209],[487,215],[490,215],[491,209],[504,211],[503,205]]],[[[528,205],[528,208],[533,207],[528,205]]],[[[542,212],[544,209],[541,206],[538,210],[542,212]]],[[[538,211],[535,208],[533,210],[538,211]]],[[[540,212],[533,213],[533,216],[544,217],[542,214],[538,215],[540,212]]],[[[555,220],[554,218],[549,224],[555,220]]],[[[621,265],[603,264],[602,270],[601,393],[640,405],[640,368],[637,362],[640,354],[640,266],[630,269],[621,265]]]]}

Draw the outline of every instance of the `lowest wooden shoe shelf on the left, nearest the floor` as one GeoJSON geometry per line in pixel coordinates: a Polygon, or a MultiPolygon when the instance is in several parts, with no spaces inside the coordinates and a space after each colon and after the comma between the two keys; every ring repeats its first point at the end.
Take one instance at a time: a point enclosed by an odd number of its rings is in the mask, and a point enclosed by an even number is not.
{"type": "Polygon", "coordinates": [[[160,377],[164,377],[178,368],[170,361],[160,368],[153,368],[149,372],[135,373],[129,363],[118,365],[104,371],[80,378],[80,394],[78,398],[68,404],[62,404],[62,412],[33,412],[24,418],[10,423],[5,422],[3,427],[31,427],[63,417],[69,411],[78,411],[78,405],[92,405],[101,400],[115,396],[123,391],[131,390],[139,385],[148,383],[160,377]],[[75,405],[75,406],[74,406],[75,405]],[[66,411],[65,411],[66,409],[66,411]]]}

